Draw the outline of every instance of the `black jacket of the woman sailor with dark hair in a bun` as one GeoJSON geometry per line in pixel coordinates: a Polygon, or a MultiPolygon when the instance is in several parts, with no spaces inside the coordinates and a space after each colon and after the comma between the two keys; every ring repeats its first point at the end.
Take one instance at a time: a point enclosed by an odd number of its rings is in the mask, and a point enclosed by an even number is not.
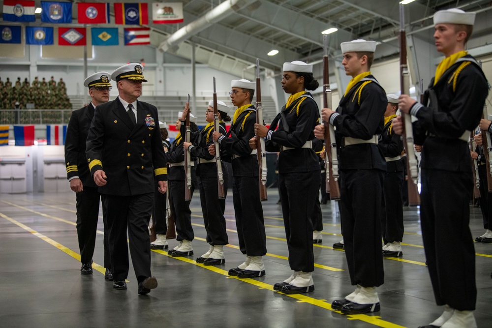
{"type": "Polygon", "coordinates": [[[310,172],[319,170],[319,159],[312,148],[302,148],[307,141],[314,139],[314,127],[319,122],[318,105],[309,92],[294,100],[289,107],[275,117],[267,133],[267,151],[280,151],[278,173],[310,172]],[[277,131],[275,129],[277,128],[277,131]]]}

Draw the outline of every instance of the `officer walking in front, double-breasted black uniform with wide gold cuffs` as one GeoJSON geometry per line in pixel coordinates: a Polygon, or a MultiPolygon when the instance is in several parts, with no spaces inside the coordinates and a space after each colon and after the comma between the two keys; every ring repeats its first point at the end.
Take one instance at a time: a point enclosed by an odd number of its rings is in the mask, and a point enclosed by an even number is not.
{"type": "Polygon", "coordinates": [[[159,192],[167,189],[166,155],[155,106],[137,101],[142,94],[140,63],[116,69],[119,96],[96,107],[87,137],[87,160],[99,192],[104,194],[109,224],[114,289],[126,289],[128,245],[138,293],[157,287],[151,274],[149,221],[154,202],[154,176],[159,192]]]}

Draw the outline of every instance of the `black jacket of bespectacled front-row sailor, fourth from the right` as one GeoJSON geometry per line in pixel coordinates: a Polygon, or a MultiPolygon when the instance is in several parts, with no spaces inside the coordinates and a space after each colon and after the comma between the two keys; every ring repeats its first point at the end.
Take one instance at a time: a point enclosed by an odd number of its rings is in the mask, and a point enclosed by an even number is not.
{"type": "MultiPolygon", "coordinates": [[[[232,171],[235,177],[258,177],[258,160],[251,155],[249,139],[254,137],[254,123],[256,123],[256,108],[251,105],[231,125],[227,136],[220,138],[221,148],[231,156],[232,171]],[[240,157],[233,158],[236,154],[240,157]]],[[[222,154],[221,154],[222,158],[222,154]]],[[[227,158],[224,156],[224,160],[227,158]]]]}

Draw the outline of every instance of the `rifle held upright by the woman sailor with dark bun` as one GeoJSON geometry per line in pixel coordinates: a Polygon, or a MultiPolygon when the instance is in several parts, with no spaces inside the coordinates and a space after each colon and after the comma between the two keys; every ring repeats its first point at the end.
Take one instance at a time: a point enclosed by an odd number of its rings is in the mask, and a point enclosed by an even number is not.
{"type": "MultiPolygon", "coordinates": [[[[256,123],[263,124],[263,107],[261,105],[260,60],[256,59],[256,123]]],[[[256,158],[258,159],[258,184],[260,201],[268,200],[267,196],[267,154],[265,139],[256,136],[256,158]]]]}

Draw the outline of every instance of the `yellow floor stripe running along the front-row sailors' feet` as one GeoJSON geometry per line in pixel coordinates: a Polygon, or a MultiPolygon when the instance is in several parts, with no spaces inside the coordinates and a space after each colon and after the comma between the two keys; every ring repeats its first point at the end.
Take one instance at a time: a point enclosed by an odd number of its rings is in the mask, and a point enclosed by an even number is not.
{"type": "MultiPolygon", "coordinates": [[[[172,256],[168,255],[167,252],[162,251],[162,250],[153,249],[153,251],[156,252],[156,253],[159,253],[159,254],[168,256],[168,257],[172,257],[172,256]]],[[[340,313],[341,314],[340,311],[333,310],[331,303],[327,302],[326,299],[312,298],[312,297],[309,297],[309,296],[304,295],[304,294],[293,294],[293,295],[283,294],[283,293],[274,291],[274,286],[273,285],[269,285],[267,283],[264,283],[263,281],[259,281],[259,280],[255,280],[255,279],[250,279],[250,278],[240,279],[240,278],[235,277],[235,276],[230,276],[229,275],[229,272],[227,270],[224,270],[224,269],[221,269],[221,268],[217,268],[215,266],[205,266],[205,265],[203,265],[201,263],[196,263],[196,261],[193,260],[193,259],[186,258],[186,257],[174,257],[174,259],[180,260],[180,261],[183,261],[183,262],[186,262],[186,263],[189,263],[189,264],[193,264],[193,265],[198,266],[198,267],[206,268],[206,269],[208,269],[210,271],[213,271],[215,273],[222,274],[222,275],[226,276],[229,279],[236,279],[236,280],[239,280],[239,281],[242,281],[242,282],[246,282],[248,284],[251,284],[251,285],[254,285],[254,286],[258,287],[259,289],[269,290],[269,291],[272,291],[272,292],[277,293],[277,294],[284,295],[284,296],[289,297],[289,298],[297,299],[298,302],[308,303],[308,304],[315,305],[315,306],[318,306],[318,307],[321,307],[321,308],[324,308],[324,309],[327,309],[327,310],[330,310],[330,311],[333,311],[333,312],[336,312],[336,313],[340,313]]],[[[343,316],[345,316],[348,320],[359,320],[359,321],[363,321],[363,322],[366,322],[368,324],[371,324],[371,325],[374,325],[374,326],[377,326],[377,327],[383,327],[383,328],[405,328],[404,326],[400,326],[400,325],[397,325],[397,324],[394,324],[394,323],[391,323],[391,322],[382,320],[380,316],[370,316],[370,315],[367,315],[367,314],[355,314],[355,315],[343,315],[343,316]]]]}

